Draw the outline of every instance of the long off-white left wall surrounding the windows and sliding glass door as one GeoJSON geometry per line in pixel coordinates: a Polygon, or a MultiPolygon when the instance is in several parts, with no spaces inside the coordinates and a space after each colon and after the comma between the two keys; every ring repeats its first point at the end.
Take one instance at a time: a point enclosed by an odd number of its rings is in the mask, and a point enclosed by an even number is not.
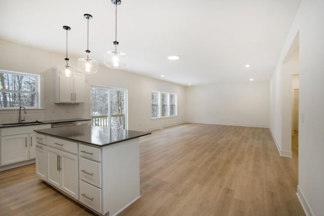
{"type": "MultiPolygon", "coordinates": [[[[45,109],[27,110],[26,120],[52,120],[90,117],[90,85],[128,89],[129,129],[146,131],[185,122],[185,87],[123,70],[99,67],[95,75],[86,75],[86,103],[54,104],[52,67],[63,65],[64,56],[0,40],[0,69],[42,74],[42,104],[45,109]],[[178,94],[178,116],[151,120],[151,90],[178,94]]],[[[76,65],[70,58],[70,64],[76,65]]],[[[18,121],[17,110],[0,110],[0,122],[18,121]]]]}

